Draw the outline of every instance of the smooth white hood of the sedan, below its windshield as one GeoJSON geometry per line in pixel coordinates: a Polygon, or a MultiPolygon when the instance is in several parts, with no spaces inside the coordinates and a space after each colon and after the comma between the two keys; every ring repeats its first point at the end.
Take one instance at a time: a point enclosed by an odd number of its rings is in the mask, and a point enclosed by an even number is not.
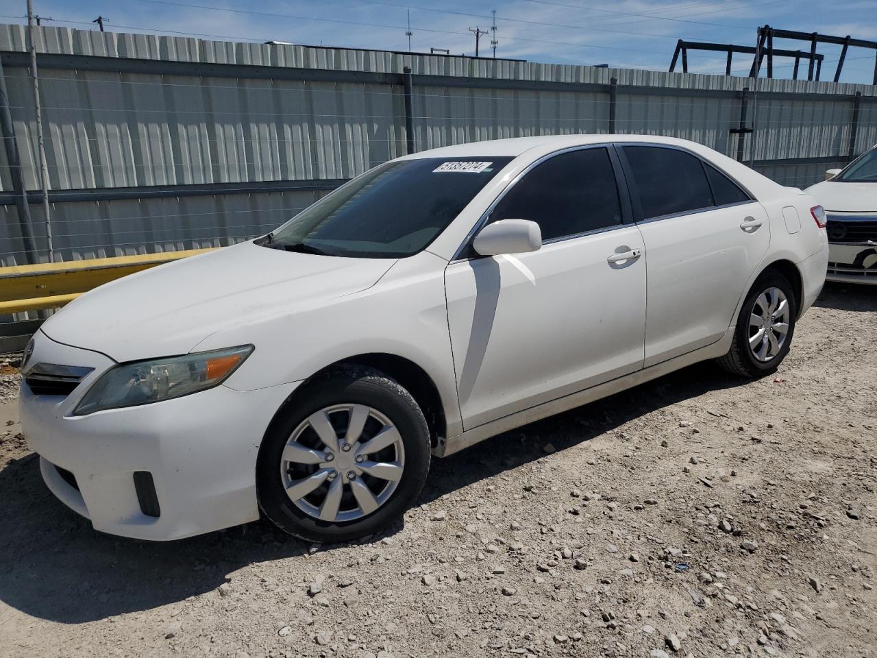
{"type": "Polygon", "coordinates": [[[116,361],[187,354],[225,327],[365,290],[394,262],[245,242],[106,283],[46,320],[42,331],[116,361]]]}

